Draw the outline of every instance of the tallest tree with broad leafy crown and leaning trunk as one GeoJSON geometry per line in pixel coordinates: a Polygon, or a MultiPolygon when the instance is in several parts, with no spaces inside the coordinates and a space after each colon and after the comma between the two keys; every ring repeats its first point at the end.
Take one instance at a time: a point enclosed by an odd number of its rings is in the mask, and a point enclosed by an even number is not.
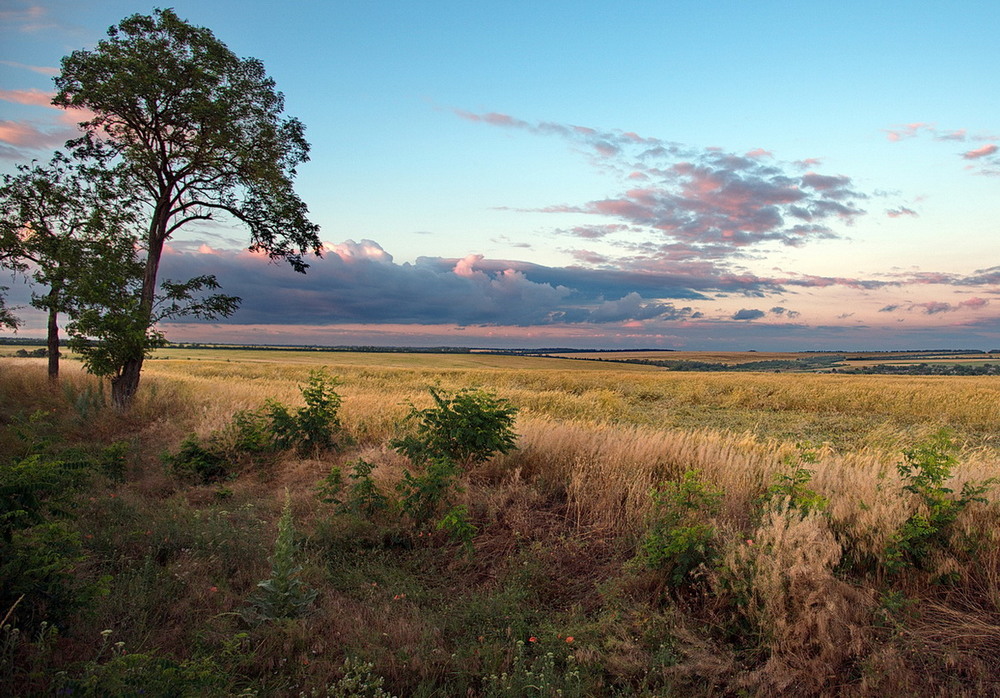
{"type": "MultiPolygon", "coordinates": [[[[308,159],[302,124],[260,61],[238,58],[211,31],[172,10],[133,15],[92,51],[74,51],[55,78],[53,103],[93,113],[70,143],[134,187],[148,215],[136,321],[155,321],[164,243],[182,226],[217,215],[244,224],[249,248],[288,260],[319,253],[318,227],[292,188],[308,159]]],[[[127,405],[144,355],[123,358],[112,396],[127,405]]]]}

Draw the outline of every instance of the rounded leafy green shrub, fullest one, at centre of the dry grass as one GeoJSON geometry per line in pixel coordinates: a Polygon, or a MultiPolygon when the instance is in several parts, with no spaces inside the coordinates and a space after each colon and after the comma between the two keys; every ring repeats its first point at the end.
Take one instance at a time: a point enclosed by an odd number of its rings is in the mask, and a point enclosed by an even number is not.
{"type": "Polygon", "coordinates": [[[514,448],[517,408],[506,400],[472,389],[430,393],[434,407],[412,408],[408,416],[417,422],[416,434],[393,442],[400,453],[414,462],[447,457],[469,467],[514,448]]]}

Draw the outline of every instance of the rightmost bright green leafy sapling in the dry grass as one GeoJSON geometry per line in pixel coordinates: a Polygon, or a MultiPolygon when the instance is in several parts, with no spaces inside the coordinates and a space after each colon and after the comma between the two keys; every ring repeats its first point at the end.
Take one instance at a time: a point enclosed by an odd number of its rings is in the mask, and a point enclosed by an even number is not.
{"type": "Polygon", "coordinates": [[[910,516],[889,539],[883,559],[889,571],[923,569],[931,553],[948,546],[951,526],[966,507],[986,501],[983,495],[991,489],[993,478],[966,482],[958,495],[945,486],[958,465],[954,451],[945,430],[903,451],[904,461],[896,467],[905,483],[903,491],[916,495],[923,510],[910,516]]]}

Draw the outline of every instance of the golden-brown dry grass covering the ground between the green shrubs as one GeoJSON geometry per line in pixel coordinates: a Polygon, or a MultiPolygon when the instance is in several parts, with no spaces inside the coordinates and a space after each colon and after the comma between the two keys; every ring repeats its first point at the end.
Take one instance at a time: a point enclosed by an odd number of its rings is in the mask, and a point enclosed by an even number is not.
{"type": "Polygon", "coordinates": [[[1000,505],[963,512],[927,570],[893,576],[878,563],[920,510],[901,491],[901,447],[947,426],[963,447],[950,486],[1000,477],[993,379],[259,354],[151,361],[130,413],[105,410],[82,422],[65,395],[96,384],[75,362],[64,364],[64,394],[44,387],[43,361],[0,359],[3,424],[49,410],[62,415],[68,438],[124,439],[136,454],[129,482],[105,485],[84,508],[86,525],[104,527],[90,543],[95,565],[118,566],[114,589],[123,595],[102,602],[88,630],[129,627],[130,646],[181,657],[242,632],[235,614],[267,574],[288,488],[307,543],[304,574],[324,593],[312,616],[253,629],[245,642],[258,660],[241,669],[259,681],[287,674],[287,691],[336,678],[350,648],[375,661],[397,692],[461,685],[476,695],[482,672],[509,666],[512,638],[539,628],[575,634],[577,658],[602,691],[606,681],[623,690],[653,681],[656,690],[690,695],[996,689],[1000,505]],[[221,429],[236,410],[267,399],[299,404],[299,386],[318,367],[340,377],[340,416],[352,439],[344,450],[288,455],[224,487],[185,485],[163,470],[159,453],[189,433],[221,429]],[[520,408],[518,449],[463,482],[459,501],[479,527],[474,562],[440,547],[442,537],[432,544],[398,524],[333,516],[313,494],[332,466],[358,457],[377,464],[376,484],[392,492],[412,466],[388,442],[411,403],[429,405],[429,385],[483,387],[520,408]],[[763,508],[767,487],[798,462],[803,434],[825,442],[805,467],[808,486],[828,504],[807,516],[763,508]],[[677,591],[627,560],[645,530],[650,489],[692,470],[725,493],[711,521],[720,552],[700,586],[677,591]],[[960,581],[934,582],[942,573],[960,581]],[[891,607],[900,599],[902,610],[891,607]],[[651,668],[664,647],[672,659],[651,668]],[[309,669],[292,672],[285,660],[309,669]]]}

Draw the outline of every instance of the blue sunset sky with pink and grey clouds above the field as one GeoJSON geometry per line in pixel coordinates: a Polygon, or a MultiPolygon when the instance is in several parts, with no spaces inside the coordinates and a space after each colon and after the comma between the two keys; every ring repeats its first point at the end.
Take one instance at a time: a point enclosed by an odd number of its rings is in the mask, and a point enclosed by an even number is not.
{"type": "MultiPolygon", "coordinates": [[[[171,6],[305,124],[324,241],[301,275],[175,234],[161,278],[243,302],[173,341],[1000,349],[995,0],[171,6]]],[[[0,172],[73,136],[60,59],[152,10],[0,0],[0,172]]]]}

